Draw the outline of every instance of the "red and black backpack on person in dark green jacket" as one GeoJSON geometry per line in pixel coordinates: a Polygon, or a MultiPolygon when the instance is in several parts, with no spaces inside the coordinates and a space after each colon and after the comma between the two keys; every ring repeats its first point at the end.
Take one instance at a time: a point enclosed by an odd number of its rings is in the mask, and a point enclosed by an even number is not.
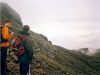
{"type": "Polygon", "coordinates": [[[16,56],[20,56],[24,54],[25,48],[22,43],[22,38],[24,38],[24,35],[18,35],[17,37],[13,38],[12,40],[12,50],[16,56]]]}

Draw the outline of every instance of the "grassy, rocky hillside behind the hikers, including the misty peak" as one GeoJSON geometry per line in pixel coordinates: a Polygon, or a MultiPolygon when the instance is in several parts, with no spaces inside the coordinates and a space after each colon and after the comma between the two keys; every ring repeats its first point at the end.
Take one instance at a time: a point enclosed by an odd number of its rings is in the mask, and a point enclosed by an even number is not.
{"type": "MultiPolygon", "coordinates": [[[[11,19],[14,22],[13,29],[17,34],[23,27],[19,14],[5,3],[0,3],[0,5],[1,20],[11,19]]],[[[53,45],[47,37],[33,31],[30,31],[30,34],[34,48],[32,75],[100,75],[100,57],[88,56],[53,45]]],[[[7,63],[9,75],[18,75],[17,57],[11,49],[7,63]]]]}

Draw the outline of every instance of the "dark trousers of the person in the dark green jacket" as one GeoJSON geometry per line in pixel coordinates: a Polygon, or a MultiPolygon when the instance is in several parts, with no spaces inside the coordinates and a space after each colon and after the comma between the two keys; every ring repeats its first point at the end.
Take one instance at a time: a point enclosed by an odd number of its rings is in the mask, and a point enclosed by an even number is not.
{"type": "Polygon", "coordinates": [[[29,72],[29,63],[20,62],[20,75],[27,75],[29,72]]]}

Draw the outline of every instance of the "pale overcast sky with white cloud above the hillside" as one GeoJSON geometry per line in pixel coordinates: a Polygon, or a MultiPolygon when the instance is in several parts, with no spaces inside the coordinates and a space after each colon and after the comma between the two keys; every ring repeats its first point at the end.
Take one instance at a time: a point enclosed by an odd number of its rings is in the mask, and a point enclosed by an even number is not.
{"type": "Polygon", "coordinates": [[[100,0],[2,0],[23,24],[69,49],[100,48],[100,0]]]}

